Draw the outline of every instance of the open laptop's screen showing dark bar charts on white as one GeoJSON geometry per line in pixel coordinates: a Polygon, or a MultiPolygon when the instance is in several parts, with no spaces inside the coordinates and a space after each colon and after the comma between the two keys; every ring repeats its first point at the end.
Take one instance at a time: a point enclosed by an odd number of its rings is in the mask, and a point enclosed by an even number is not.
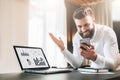
{"type": "Polygon", "coordinates": [[[14,49],[22,69],[49,68],[42,48],[14,46],[14,49]]]}

